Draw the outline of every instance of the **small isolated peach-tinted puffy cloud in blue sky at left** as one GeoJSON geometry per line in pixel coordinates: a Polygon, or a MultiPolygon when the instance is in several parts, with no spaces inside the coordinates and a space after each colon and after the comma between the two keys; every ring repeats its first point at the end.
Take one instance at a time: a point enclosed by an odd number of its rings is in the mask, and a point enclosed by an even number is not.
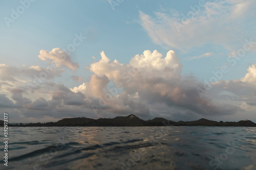
{"type": "Polygon", "coordinates": [[[68,53],[62,51],[60,48],[53,48],[53,50],[50,52],[41,50],[38,58],[42,61],[48,61],[48,63],[51,63],[52,61],[57,67],[61,67],[62,65],[66,66],[73,71],[79,68],[79,64],[72,62],[68,53]]]}

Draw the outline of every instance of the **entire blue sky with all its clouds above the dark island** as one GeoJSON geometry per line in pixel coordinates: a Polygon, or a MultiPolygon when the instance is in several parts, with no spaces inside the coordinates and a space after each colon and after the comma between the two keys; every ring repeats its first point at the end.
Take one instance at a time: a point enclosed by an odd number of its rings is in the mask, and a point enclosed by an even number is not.
{"type": "Polygon", "coordinates": [[[1,115],[256,122],[255,5],[2,1],[1,115]]]}

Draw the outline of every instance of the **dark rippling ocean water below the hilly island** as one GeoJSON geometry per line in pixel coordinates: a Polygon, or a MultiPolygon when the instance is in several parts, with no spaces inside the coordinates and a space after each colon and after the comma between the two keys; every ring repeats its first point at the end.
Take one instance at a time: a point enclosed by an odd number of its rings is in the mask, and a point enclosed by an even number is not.
{"type": "Polygon", "coordinates": [[[8,135],[6,169],[256,169],[256,128],[9,127],[8,135]]]}

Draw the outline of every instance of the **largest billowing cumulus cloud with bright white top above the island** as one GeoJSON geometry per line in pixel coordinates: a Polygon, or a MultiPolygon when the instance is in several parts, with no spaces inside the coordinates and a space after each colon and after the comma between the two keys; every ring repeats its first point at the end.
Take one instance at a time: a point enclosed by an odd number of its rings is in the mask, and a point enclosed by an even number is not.
{"type": "MultiPolygon", "coordinates": [[[[241,110],[238,106],[217,103],[207,97],[201,99],[196,89],[203,84],[195,78],[182,78],[182,67],[174,51],[169,51],[164,58],[157,51],[144,51],[142,55],[133,57],[129,64],[121,64],[117,60],[110,62],[104,52],[101,52],[101,60],[88,67],[95,74],[89,82],[91,89],[88,93],[94,97],[105,97],[105,103],[111,106],[112,112],[115,112],[115,109],[120,112],[121,109],[132,108],[132,104],[125,103],[129,100],[144,106],[163,103],[169,107],[176,106],[205,115],[232,114],[241,110]],[[116,87],[122,87],[121,94],[115,92],[112,98],[106,95],[106,85],[110,80],[116,87]]],[[[148,107],[143,108],[143,114],[150,113],[148,107]]]]}

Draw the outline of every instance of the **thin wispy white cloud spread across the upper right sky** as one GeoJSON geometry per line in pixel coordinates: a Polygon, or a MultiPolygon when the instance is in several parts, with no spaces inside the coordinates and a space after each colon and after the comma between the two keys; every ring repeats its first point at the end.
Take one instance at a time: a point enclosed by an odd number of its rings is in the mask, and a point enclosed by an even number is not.
{"type": "Polygon", "coordinates": [[[255,34],[255,27],[248,29],[255,5],[253,0],[226,0],[205,2],[184,14],[173,9],[161,9],[155,16],[139,14],[142,27],[156,44],[186,51],[210,43],[233,51],[255,34]]]}

